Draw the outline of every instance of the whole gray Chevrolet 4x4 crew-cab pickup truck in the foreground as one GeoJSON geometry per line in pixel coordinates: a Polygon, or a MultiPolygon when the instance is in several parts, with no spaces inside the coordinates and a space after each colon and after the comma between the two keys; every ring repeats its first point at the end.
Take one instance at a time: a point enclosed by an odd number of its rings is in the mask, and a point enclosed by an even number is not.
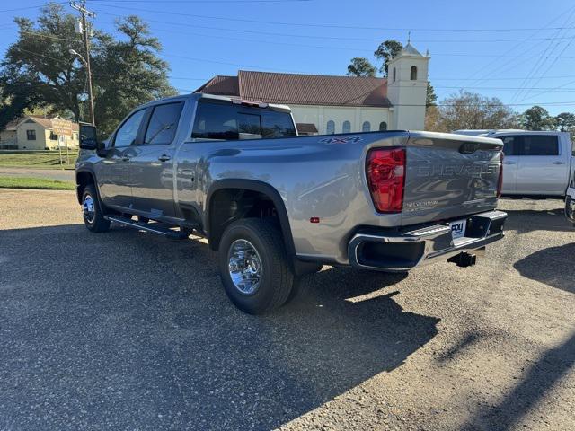
{"type": "Polygon", "coordinates": [[[465,267],[503,237],[499,139],[385,131],[298,137],[287,106],[190,94],[133,110],[107,141],[83,126],[78,201],[111,222],[205,236],[244,312],[288,301],[326,265],[465,267]]]}

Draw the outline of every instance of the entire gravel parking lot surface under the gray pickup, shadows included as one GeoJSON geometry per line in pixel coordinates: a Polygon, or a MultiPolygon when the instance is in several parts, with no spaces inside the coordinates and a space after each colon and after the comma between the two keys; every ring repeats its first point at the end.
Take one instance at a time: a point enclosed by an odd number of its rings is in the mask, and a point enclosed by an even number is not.
{"type": "Polygon", "coordinates": [[[253,317],[205,242],[88,233],[38,193],[0,190],[0,429],[575,428],[560,201],[503,201],[476,267],[324,267],[253,317]]]}

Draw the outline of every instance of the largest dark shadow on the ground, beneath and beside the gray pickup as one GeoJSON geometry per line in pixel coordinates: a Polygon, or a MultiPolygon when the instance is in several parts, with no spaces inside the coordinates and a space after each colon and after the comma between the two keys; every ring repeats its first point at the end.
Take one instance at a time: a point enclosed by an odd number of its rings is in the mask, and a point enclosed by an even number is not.
{"type": "Polygon", "coordinates": [[[403,275],[326,268],[254,317],[203,242],[79,224],[0,242],[2,429],[279,427],[438,332],[395,302],[403,275]]]}

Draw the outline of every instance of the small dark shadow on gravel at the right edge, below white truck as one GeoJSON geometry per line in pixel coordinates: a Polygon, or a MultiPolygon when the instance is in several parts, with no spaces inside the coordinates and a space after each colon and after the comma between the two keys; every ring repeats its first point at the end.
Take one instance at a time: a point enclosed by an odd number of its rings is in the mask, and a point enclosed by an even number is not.
{"type": "Polygon", "coordinates": [[[535,251],[513,266],[523,277],[575,294],[574,258],[575,242],[571,242],[535,251]]]}

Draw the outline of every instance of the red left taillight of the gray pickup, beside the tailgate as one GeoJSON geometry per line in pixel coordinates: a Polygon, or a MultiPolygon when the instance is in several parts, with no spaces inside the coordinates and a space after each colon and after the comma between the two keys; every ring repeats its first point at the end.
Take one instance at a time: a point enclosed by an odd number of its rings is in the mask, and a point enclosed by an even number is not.
{"type": "Polygon", "coordinates": [[[403,209],[405,148],[376,148],[367,154],[367,182],[380,213],[403,209]]]}

